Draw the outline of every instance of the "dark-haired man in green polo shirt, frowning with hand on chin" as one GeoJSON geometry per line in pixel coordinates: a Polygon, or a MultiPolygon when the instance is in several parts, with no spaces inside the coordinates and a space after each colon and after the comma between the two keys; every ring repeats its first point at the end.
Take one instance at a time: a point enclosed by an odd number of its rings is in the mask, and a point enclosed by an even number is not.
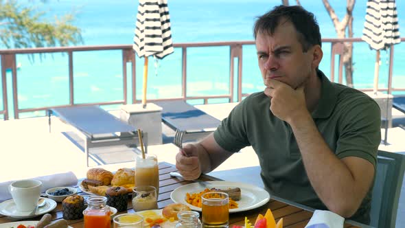
{"type": "Polygon", "coordinates": [[[380,144],[380,109],[369,96],[319,71],[314,15],[277,6],[254,27],[266,89],[244,99],[215,133],[176,155],[185,179],[215,169],[252,146],[270,194],[369,223],[380,144]]]}

